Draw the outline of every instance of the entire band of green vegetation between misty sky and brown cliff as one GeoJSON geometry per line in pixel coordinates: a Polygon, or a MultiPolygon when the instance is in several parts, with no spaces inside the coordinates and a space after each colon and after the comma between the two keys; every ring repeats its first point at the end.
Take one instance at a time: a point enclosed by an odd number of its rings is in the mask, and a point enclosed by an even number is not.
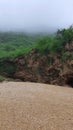
{"type": "Polygon", "coordinates": [[[24,33],[0,33],[0,58],[27,54],[32,48],[38,49],[41,54],[62,54],[67,57],[65,45],[70,44],[71,41],[73,41],[72,26],[58,30],[53,36],[41,36],[41,38],[39,35],[32,36],[24,33]]]}

